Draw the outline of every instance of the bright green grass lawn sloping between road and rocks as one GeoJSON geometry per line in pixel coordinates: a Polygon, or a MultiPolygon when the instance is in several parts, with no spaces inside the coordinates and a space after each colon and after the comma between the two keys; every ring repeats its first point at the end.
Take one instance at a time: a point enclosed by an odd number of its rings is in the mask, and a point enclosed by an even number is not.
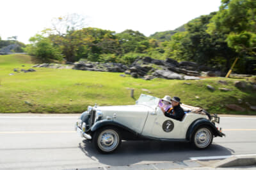
{"type": "Polygon", "coordinates": [[[200,106],[210,113],[256,115],[245,104],[248,101],[256,105],[255,92],[234,87],[237,79],[184,81],[157,78],[147,81],[122,77],[121,73],[72,69],[35,68],[35,72],[29,73],[13,71],[13,68],[20,70],[31,66],[33,62],[28,55],[0,55],[0,113],[81,113],[95,103],[100,106],[134,104],[144,93],[157,97],[179,96],[182,103],[200,106]],[[222,85],[218,80],[226,80],[228,85],[222,85]],[[216,90],[208,90],[207,84],[216,90]],[[221,92],[219,87],[232,91],[221,92]],[[131,88],[134,89],[134,98],[130,97],[131,88]],[[244,113],[226,110],[225,104],[238,104],[238,99],[242,99],[239,105],[247,109],[244,113]]]}

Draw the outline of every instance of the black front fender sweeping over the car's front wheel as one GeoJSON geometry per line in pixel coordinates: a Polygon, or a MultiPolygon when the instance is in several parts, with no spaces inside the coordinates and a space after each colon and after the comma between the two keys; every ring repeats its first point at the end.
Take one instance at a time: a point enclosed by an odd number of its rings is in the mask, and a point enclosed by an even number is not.
{"type": "Polygon", "coordinates": [[[125,125],[115,122],[114,120],[99,120],[98,122],[95,122],[95,124],[93,124],[91,127],[91,132],[93,133],[105,126],[118,128],[122,134],[122,139],[138,139],[139,137],[138,132],[133,131],[132,129],[126,127],[125,125]]]}

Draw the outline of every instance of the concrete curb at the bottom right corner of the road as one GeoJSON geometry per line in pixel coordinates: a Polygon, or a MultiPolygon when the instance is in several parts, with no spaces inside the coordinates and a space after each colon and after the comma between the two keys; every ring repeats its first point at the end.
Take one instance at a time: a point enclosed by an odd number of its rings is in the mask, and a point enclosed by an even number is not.
{"type": "Polygon", "coordinates": [[[240,167],[256,165],[256,156],[238,156],[234,155],[214,164],[214,167],[240,167]]]}

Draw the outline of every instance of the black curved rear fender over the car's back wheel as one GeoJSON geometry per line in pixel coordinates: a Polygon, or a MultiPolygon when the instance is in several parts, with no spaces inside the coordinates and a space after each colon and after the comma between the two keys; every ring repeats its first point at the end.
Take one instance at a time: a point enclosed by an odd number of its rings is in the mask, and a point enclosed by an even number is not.
{"type": "Polygon", "coordinates": [[[213,136],[222,137],[225,135],[225,134],[221,133],[220,131],[218,131],[216,126],[210,120],[207,120],[206,118],[199,118],[199,119],[195,120],[191,125],[189,125],[188,131],[186,133],[186,139],[188,139],[190,141],[193,132],[196,129],[198,129],[198,127],[200,127],[202,125],[206,125],[206,126],[210,127],[212,129],[213,136]]]}

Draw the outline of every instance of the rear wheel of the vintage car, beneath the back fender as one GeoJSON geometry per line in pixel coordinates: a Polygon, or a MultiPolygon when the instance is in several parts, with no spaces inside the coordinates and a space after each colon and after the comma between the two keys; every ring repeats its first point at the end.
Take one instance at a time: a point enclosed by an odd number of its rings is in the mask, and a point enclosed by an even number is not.
{"type": "Polygon", "coordinates": [[[190,142],[196,149],[203,150],[211,146],[212,139],[211,127],[200,126],[193,132],[190,142]]]}

